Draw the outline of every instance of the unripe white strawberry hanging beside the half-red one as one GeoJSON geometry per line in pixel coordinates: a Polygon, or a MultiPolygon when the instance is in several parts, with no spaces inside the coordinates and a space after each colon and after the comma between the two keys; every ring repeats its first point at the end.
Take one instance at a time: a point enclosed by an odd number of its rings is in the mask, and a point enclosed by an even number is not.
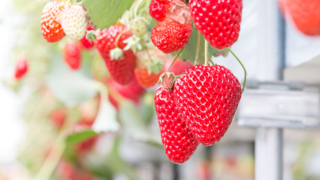
{"type": "Polygon", "coordinates": [[[83,38],[88,24],[83,7],[73,4],[64,8],[60,15],[60,24],[66,36],[73,40],[83,38]]]}

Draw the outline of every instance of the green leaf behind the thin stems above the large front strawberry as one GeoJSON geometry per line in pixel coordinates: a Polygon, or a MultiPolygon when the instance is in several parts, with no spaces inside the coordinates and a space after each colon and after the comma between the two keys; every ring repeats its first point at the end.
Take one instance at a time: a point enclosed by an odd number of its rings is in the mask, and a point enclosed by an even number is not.
{"type": "MultiPolygon", "coordinates": [[[[193,28],[192,30],[192,34],[191,37],[189,39],[189,42],[185,45],[182,53],[180,54],[180,58],[181,59],[189,59],[191,63],[194,62],[194,58],[195,58],[195,52],[196,52],[196,43],[197,43],[197,29],[193,28]]],[[[204,38],[203,35],[200,34],[200,43],[203,44],[204,46],[204,38]]],[[[179,51],[173,52],[171,53],[173,56],[175,56],[179,51]]],[[[224,55],[223,56],[227,56],[228,54],[228,50],[227,49],[217,49],[212,47],[211,45],[208,45],[208,52],[210,55],[215,55],[218,54],[219,52],[223,52],[224,55]]],[[[201,46],[199,45],[199,56],[198,56],[198,60],[197,62],[200,62],[202,59],[202,49],[201,46]]],[[[212,59],[214,62],[214,59],[212,59]]]]}

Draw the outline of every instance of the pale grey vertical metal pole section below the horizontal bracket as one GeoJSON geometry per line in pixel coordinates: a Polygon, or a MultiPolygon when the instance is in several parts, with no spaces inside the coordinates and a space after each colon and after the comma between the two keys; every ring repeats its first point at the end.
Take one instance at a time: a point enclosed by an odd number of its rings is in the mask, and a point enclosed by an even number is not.
{"type": "Polygon", "coordinates": [[[282,179],[282,141],[282,128],[257,128],[254,144],[255,180],[282,179]]]}

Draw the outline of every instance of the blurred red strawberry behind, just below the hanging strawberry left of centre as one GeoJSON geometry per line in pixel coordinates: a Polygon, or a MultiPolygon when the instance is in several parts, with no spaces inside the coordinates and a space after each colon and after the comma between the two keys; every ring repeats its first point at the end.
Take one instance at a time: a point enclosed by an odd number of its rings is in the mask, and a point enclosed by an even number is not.
{"type": "MultiPolygon", "coordinates": [[[[123,97],[133,101],[134,103],[138,103],[140,96],[144,93],[144,89],[139,85],[135,78],[126,85],[119,84],[113,79],[107,79],[106,83],[113,90],[117,91],[123,97]]],[[[109,95],[109,100],[111,104],[118,109],[117,101],[112,97],[112,95],[109,95]]]]}

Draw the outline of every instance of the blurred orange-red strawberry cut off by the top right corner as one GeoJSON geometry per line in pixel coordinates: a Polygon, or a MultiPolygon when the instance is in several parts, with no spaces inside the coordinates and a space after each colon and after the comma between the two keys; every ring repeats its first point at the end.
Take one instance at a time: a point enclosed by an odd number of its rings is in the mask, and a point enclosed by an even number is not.
{"type": "Polygon", "coordinates": [[[320,0],[278,0],[278,3],[301,32],[320,35],[320,0]]]}

